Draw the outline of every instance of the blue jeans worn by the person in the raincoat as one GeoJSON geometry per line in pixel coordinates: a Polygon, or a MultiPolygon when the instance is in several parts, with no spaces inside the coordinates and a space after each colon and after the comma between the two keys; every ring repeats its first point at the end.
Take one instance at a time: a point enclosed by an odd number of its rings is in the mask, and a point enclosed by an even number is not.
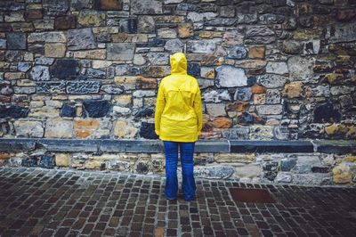
{"type": "Polygon", "coordinates": [[[178,192],[178,147],[181,151],[182,163],[182,191],[184,200],[195,198],[196,185],[194,180],[194,145],[195,143],[163,142],[166,153],[166,188],[165,195],[168,200],[175,200],[178,192]]]}

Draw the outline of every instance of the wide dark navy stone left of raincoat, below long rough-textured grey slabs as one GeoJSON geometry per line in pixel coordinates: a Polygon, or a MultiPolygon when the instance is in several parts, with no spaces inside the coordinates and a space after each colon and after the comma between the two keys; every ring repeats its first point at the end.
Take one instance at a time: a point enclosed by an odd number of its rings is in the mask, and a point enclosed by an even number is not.
{"type": "Polygon", "coordinates": [[[109,114],[111,105],[108,101],[85,101],[83,102],[84,118],[101,118],[109,114]]]}

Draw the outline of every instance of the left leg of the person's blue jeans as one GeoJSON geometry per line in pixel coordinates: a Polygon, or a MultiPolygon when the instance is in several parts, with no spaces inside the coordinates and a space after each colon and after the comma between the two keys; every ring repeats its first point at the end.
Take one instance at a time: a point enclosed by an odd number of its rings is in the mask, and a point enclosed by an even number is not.
{"type": "Polygon", "coordinates": [[[177,164],[178,164],[178,143],[166,142],[166,199],[174,200],[177,198],[178,192],[178,177],[177,177],[177,164]]]}

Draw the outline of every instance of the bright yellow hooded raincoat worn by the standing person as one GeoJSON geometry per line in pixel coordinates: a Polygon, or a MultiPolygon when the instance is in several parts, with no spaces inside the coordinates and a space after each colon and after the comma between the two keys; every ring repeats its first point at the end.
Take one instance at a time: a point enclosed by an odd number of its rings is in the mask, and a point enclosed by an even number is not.
{"type": "Polygon", "coordinates": [[[171,56],[171,75],[159,85],[155,132],[163,141],[192,143],[198,140],[203,125],[198,81],[187,74],[183,53],[171,56]]]}

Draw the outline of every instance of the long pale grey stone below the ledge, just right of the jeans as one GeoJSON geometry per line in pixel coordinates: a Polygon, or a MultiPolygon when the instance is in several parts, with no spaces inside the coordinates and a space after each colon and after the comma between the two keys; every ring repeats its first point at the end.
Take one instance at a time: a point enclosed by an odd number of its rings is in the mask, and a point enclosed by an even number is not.
{"type": "Polygon", "coordinates": [[[194,176],[210,179],[227,179],[234,174],[235,170],[227,166],[214,167],[196,167],[194,168],[194,176]]]}

